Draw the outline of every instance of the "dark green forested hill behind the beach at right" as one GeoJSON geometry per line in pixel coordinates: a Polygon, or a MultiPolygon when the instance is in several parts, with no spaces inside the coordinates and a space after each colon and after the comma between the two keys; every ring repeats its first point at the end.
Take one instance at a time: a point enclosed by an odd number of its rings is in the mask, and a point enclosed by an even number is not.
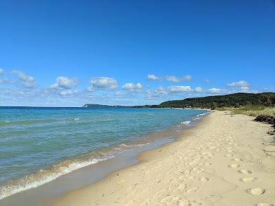
{"type": "Polygon", "coordinates": [[[162,102],[159,107],[239,107],[245,105],[275,106],[275,93],[234,93],[229,95],[215,95],[204,98],[187,98],[162,102]]]}

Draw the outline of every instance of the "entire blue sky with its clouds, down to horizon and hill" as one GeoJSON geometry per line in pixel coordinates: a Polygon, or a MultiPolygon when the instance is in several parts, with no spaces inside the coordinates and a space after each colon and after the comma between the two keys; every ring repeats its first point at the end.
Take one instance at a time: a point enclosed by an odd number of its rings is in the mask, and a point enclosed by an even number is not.
{"type": "Polygon", "coordinates": [[[275,1],[1,1],[0,106],[275,91],[275,1]]]}

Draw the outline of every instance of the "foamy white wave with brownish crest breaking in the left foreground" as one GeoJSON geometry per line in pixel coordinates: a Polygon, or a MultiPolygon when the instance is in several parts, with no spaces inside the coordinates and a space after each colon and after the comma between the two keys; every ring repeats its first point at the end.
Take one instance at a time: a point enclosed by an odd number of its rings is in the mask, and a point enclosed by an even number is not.
{"type": "Polygon", "coordinates": [[[39,172],[36,172],[36,174],[30,174],[28,176],[25,176],[23,179],[8,181],[5,186],[0,187],[0,200],[7,196],[11,196],[12,194],[17,194],[19,192],[23,192],[34,187],[39,187],[40,185],[44,185],[45,183],[54,181],[59,176],[69,174],[69,172],[73,172],[74,170],[84,168],[88,165],[93,165],[100,161],[111,159],[121,152],[131,150],[133,148],[142,147],[146,144],[120,144],[119,146],[109,149],[109,152],[105,154],[102,154],[101,151],[91,152],[87,155],[84,155],[83,157],[74,159],[74,161],[63,161],[61,163],[58,163],[57,165],[53,165],[52,168],[48,170],[40,170],[39,172]]]}

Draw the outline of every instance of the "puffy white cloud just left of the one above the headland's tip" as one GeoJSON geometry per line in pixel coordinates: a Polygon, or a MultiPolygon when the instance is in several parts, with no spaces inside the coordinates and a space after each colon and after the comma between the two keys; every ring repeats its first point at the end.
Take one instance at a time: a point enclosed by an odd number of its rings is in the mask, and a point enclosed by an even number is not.
{"type": "Polygon", "coordinates": [[[68,78],[65,76],[58,76],[56,82],[50,85],[50,89],[72,89],[78,86],[78,78],[68,78]]]}

